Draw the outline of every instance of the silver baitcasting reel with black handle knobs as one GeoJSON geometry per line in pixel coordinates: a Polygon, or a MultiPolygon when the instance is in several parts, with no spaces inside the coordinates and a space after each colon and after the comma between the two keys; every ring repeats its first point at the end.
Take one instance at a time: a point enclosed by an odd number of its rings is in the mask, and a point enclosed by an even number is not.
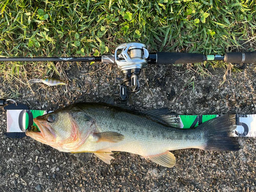
{"type": "Polygon", "coordinates": [[[131,87],[132,92],[139,91],[139,74],[141,69],[147,67],[149,53],[146,45],[139,42],[129,42],[119,45],[115,50],[115,63],[123,74],[123,83],[120,88],[120,99],[127,99],[126,87],[131,87]],[[123,85],[125,84],[125,86],[123,85]]]}

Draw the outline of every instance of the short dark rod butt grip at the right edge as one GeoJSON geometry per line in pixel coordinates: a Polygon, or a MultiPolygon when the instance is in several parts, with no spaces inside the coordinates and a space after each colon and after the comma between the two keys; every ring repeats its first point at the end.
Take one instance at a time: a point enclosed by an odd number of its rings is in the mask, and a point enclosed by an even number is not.
{"type": "MultiPolygon", "coordinates": [[[[224,57],[224,62],[241,63],[242,61],[243,53],[241,52],[226,53],[224,57]]],[[[243,63],[256,63],[256,51],[244,52],[243,63]]]]}

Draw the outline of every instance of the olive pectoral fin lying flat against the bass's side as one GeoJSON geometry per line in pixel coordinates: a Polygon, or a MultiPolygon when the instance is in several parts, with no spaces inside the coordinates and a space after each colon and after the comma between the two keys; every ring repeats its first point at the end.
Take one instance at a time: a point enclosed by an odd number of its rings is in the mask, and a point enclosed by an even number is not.
{"type": "Polygon", "coordinates": [[[94,137],[97,137],[97,142],[111,142],[111,143],[117,143],[124,139],[124,136],[120,133],[116,132],[103,132],[103,133],[97,133],[93,135],[94,137]]]}

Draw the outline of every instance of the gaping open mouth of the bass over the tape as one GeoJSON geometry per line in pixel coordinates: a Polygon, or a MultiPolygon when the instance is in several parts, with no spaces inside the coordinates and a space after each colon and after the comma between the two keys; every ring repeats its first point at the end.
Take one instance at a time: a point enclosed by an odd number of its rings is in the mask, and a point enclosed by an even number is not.
{"type": "Polygon", "coordinates": [[[36,126],[32,125],[31,129],[26,131],[27,136],[43,143],[46,141],[52,141],[55,138],[54,132],[48,125],[44,122],[39,122],[37,118],[34,118],[33,120],[36,126]]]}

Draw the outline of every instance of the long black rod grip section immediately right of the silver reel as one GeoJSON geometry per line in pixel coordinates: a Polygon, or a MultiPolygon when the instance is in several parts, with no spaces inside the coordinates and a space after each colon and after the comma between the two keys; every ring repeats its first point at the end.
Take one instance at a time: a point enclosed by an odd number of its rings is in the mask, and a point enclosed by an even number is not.
{"type": "Polygon", "coordinates": [[[205,55],[199,53],[157,53],[157,64],[181,64],[181,63],[195,63],[206,60],[205,55]]]}

